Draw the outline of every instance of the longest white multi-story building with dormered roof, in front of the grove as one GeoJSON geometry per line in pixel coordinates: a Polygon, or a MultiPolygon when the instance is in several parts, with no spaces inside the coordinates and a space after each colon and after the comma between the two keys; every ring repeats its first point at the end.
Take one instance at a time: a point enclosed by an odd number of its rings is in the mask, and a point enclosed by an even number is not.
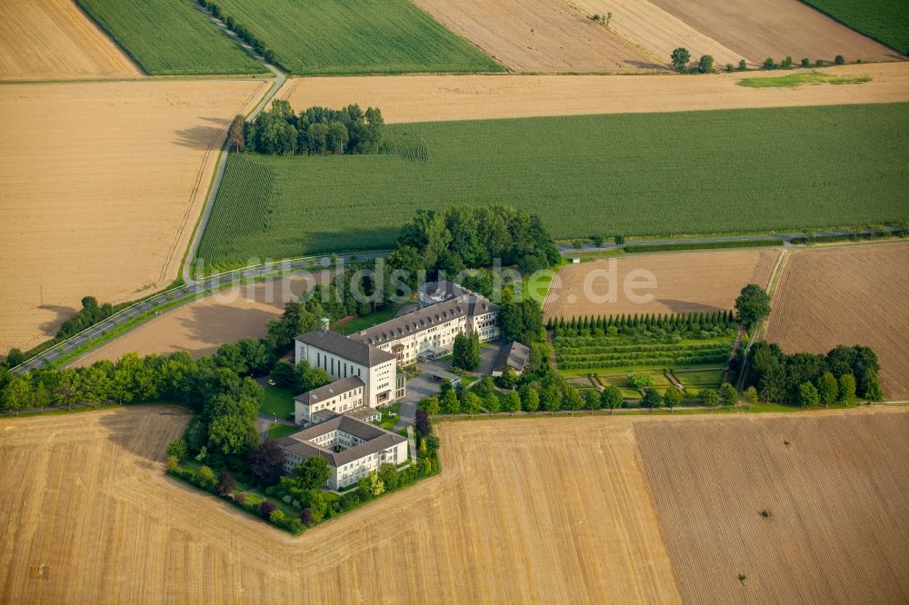
{"type": "Polygon", "coordinates": [[[357,332],[351,339],[391,353],[399,365],[408,365],[452,352],[457,334],[476,332],[480,342],[499,337],[498,305],[457,284],[444,284],[433,292],[455,293],[454,298],[357,332]]]}

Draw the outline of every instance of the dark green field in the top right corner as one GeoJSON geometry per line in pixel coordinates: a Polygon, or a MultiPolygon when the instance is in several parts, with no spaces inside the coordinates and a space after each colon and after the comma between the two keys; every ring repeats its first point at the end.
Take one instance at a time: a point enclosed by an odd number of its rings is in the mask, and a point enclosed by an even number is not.
{"type": "Polygon", "coordinates": [[[909,55],[906,0],[804,0],[845,25],[909,55]]]}

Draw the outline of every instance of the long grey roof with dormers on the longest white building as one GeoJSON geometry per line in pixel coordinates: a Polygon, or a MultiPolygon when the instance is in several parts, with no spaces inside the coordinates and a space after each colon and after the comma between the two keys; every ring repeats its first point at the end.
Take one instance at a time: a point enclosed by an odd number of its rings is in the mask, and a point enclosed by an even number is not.
{"type": "Polygon", "coordinates": [[[469,293],[450,301],[436,302],[415,312],[374,325],[362,332],[351,334],[351,338],[372,345],[395,341],[411,334],[423,332],[436,325],[450,322],[467,315],[479,315],[498,311],[498,305],[484,296],[469,293]]]}

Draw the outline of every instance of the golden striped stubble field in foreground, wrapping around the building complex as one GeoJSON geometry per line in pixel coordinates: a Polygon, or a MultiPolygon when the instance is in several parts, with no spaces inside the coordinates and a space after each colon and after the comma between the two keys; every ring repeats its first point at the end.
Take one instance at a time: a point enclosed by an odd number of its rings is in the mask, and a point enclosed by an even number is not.
{"type": "Polygon", "coordinates": [[[442,475],[296,538],[165,477],[186,420],[0,420],[0,601],[679,602],[630,420],[442,424],[442,475]]]}

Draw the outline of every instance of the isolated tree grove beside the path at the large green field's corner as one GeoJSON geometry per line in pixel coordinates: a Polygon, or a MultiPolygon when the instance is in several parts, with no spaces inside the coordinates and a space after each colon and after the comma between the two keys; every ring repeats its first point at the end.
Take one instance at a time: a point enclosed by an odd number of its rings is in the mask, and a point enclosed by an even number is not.
{"type": "Polygon", "coordinates": [[[277,99],[271,110],[246,123],[245,149],[275,155],[377,154],[384,126],[375,107],[365,112],[356,104],[310,107],[295,114],[290,103],[277,99]]]}

